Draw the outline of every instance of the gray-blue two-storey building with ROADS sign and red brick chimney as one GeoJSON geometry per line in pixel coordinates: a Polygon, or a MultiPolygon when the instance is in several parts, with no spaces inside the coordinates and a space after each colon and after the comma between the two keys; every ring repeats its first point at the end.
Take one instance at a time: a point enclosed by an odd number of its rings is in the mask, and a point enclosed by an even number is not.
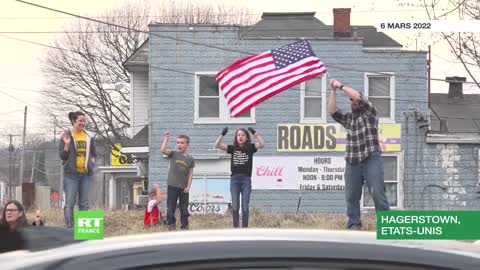
{"type": "MultiPolygon", "coordinates": [[[[230,128],[226,143],[235,128],[252,126],[266,144],[254,158],[252,207],[274,212],[344,211],[345,131],[327,113],[328,76],[292,87],[237,118],[229,114],[215,80],[219,70],[240,58],[305,39],[329,75],[377,106],[393,208],[427,208],[435,196],[436,207],[474,207],[451,203],[454,190],[439,194],[433,186],[442,181],[433,177],[441,179],[448,169],[442,167],[441,151],[433,151],[438,146],[425,140],[426,52],[404,51],[372,26],[351,25],[350,9],[333,13],[333,25],[314,13],[264,13],[248,27],[151,24],[148,41],[125,63],[132,78],[132,135],[149,127],[149,183],[166,187],[168,162],[159,151],[163,132],[187,134],[196,161],[190,211],[225,212],[230,159],[213,144],[224,126],[230,128]],[[432,162],[426,164],[429,148],[432,162]]],[[[338,102],[349,110],[346,97],[340,95],[338,102]]],[[[175,147],[173,139],[169,146],[175,147]]],[[[373,207],[368,192],[362,205],[373,207]]]]}

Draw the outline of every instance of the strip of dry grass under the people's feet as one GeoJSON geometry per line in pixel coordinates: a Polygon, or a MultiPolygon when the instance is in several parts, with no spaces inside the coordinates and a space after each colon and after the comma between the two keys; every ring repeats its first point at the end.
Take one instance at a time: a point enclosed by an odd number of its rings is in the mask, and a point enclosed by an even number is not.
{"type": "MultiPolygon", "coordinates": [[[[64,226],[63,210],[48,209],[42,212],[47,225],[64,226]]],[[[33,219],[33,212],[27,213],[28,219],[33,219]]],[[[190,216],[190,229],[224,229],[232,227],[230,215],[195,215],[190,216]]],[[[177,223],[179,217],[177,212],[177,223]]],[[[344,214],[274,214],[250,210],[250,227],[252,228],[301,228],[301,229],[327,229],[344,230],[347,218],[344,214]]],[[[376,229],[375,214],[367,213],[362,216],[364,230],[376,229]]],[[[155,228],[143,227],[143,210],[134,211],[105,211],[104,237],[152,233],[166,231],[164,226],[155,228]]]]}

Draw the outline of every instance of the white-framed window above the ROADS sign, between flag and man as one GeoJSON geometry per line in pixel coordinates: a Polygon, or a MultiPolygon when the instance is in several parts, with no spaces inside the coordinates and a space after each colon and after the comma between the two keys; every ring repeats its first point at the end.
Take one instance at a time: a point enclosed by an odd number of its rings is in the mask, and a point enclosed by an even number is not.
{"type": "Polygon", "coordinates": [[[301,84],[300,122],[326,122],[326,88],[325,76],[301,84]]]}

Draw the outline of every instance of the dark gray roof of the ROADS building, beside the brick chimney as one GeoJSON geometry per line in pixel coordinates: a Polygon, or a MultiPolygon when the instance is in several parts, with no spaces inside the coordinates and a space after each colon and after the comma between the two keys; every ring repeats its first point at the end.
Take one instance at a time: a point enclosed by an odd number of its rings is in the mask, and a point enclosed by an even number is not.
{"type": "MultiPolygon", "coordinates": [[[[402,47],[373,26],[352,25],[351,38],[363,39],[364,47],[402,47]]],[[[242,38],[325,38],[333,39],[333,26],[315,18],[315,12],[263,13],[256,24],[246,27],[242,38]]]]}

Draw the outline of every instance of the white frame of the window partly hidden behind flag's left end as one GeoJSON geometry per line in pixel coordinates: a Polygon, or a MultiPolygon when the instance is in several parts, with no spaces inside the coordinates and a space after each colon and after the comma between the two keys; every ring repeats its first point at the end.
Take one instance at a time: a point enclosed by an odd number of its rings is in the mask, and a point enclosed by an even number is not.
{"type": "Polygon", "coordinates": [[[199,98],[200,98],[200,77],[201,76],[214,76],[218,72],[215,71],[202,71],[195,72],[195,107],[194,107],[194,124],[254,124],[255,123],[255,108],[250,110],[250,117],[232,117],[230,116],[230,110],[227,106],[227,100],[222,95],[219,89],[219,118],[213,117],[200,117],[199,113],[199,98]]]}

